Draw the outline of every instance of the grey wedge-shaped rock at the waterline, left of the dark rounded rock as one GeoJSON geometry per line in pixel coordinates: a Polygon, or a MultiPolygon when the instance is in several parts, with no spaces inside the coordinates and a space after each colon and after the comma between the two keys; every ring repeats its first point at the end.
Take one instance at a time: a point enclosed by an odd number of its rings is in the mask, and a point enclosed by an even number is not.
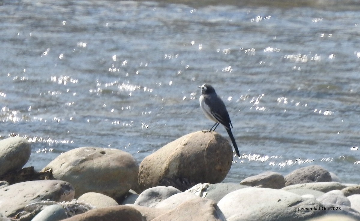
{"type": "Polygon", "coordinates": [[[285,180],[283,175],[280,173],[266,171],[255,176],[247,177],[242,180],[240,184],[247,186],[280,189],[285,186],[285,180]]]}

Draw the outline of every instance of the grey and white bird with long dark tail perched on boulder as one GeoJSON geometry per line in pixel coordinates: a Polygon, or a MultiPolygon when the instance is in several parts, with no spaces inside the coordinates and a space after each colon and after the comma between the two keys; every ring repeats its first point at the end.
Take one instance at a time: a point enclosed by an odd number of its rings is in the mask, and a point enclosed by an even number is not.
{"type": "Polygon", "coordinates": [[[236,145],[235,138],[230,128],[230,125],[233,127],[233,124],[231,124],[230,116],[224,102],[217,96],[215,89],[210,84],[203,84],[198,87],[201,88],[201,96],[199,98],[200,107],[208,119],[215,121],[215,124],[209,132],[215,131],[217,126],[222,124],[228,132],[231,142],[233,142],[236,154],[240,156],[238,145],[236,145]]]}

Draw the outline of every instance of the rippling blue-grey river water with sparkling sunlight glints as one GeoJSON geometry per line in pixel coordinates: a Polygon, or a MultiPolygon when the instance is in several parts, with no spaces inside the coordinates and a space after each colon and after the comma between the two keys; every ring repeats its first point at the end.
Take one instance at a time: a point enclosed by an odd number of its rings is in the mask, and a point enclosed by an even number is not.
{"type": "Polygon", "coordinates": [[[360,180],[357,1],[1,3],[0,138],[32,142],[27,165],[81,146],[140,163],[212,126],[206,82],[242,154],[225,181],[314,164],[360,180]]]}

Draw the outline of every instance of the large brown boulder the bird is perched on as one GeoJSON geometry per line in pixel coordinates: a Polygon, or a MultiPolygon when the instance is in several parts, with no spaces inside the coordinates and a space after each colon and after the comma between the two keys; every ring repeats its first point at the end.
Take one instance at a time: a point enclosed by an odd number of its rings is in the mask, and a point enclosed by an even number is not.
{"type": "Polygon", "coordinates": [[[190,133],[145,157],[139,168],[140,189],[174,186],[184,191],[199,183],[218,183],[232,160],[232,147],[219,133],[190,133]]]}

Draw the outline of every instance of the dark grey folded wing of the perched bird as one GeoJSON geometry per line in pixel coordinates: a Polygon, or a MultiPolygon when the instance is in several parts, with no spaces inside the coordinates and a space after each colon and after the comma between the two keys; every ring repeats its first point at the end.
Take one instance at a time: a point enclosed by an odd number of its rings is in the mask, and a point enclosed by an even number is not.
{"type": "Polygon", "coordinates": [[[230,117],[226,110],[224,102],[217,95],[208,97],[205,100],[205,104],[211,107],[210,112],[214,118],[219,121],[220,124],[224,125],[226,129],[230,129],[230,117]]]}

